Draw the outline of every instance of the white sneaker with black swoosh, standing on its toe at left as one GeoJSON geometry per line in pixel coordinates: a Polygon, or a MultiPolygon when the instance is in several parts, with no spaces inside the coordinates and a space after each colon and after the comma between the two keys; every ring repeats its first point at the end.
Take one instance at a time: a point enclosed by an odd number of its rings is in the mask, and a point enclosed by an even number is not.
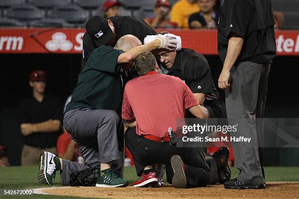
{"type": "Polygon", "coordinates": [[[54,162],[54,154],[43,151],[40,155],[40,169],[38,180],[41,184],[53,184],[56,174],[56,164],[54,162]]]}

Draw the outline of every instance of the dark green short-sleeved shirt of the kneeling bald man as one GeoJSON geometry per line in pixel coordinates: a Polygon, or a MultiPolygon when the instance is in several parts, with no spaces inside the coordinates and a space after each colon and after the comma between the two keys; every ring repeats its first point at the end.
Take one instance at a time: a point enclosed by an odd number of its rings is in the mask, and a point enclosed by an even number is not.
{"type": "Polygon", "coordinates": [[[121,53],[111,46],[101,46],[91,53],[64,112],[87,107],[121,112],[123,87],[121,66],[117,64],[121,53]]]}

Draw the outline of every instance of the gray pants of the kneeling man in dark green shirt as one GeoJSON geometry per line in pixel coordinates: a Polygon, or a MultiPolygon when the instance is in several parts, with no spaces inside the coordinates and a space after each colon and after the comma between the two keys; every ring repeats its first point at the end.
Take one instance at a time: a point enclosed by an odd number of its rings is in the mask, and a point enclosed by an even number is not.
{"type": "MultiPolygon", "coordinates": [[[[64,114],[64,126],[79,146],[85,164],[63,160],[61,179],[69,184],[75,171],[110,163],[111,169],[122,172],[123,152],[119,150],[117,133],[120,119],[112,110],[74,109],[64,114]]],[[[121,175],[122,177],[122,175],[121,175]]]]}

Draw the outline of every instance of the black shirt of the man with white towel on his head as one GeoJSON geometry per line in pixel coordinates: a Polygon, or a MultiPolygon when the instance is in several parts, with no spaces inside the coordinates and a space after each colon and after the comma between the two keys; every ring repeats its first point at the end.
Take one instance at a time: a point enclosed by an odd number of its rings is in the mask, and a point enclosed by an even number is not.
{"type": "Polygon", "coordinates": [[[182,48],[176,52],[174,63],[167,75],[183,80],[192,93],[206,94],[204,103],[219,99],[207,59],[192,49],[182,48]]]}

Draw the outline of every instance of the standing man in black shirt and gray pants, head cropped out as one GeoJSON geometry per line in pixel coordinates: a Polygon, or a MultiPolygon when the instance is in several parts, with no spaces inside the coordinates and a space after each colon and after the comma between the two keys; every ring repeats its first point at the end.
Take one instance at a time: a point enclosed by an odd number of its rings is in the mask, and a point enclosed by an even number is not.
{"type": "MultiPolygon", "coordinates": [[[[270,0],[225,0],[218,21],[218,53],[223,69],[218,86],[225,89],[227,115],[238,120],[233,142],[239,176],[225,188],[264,188],[262,137],[268,74],[276,55],[275,20],[270,0]],[[240,124],[241,123],[241,124],[240,124]]],[[[232,136],[232,134],[231,134],[232,136]]]]}

